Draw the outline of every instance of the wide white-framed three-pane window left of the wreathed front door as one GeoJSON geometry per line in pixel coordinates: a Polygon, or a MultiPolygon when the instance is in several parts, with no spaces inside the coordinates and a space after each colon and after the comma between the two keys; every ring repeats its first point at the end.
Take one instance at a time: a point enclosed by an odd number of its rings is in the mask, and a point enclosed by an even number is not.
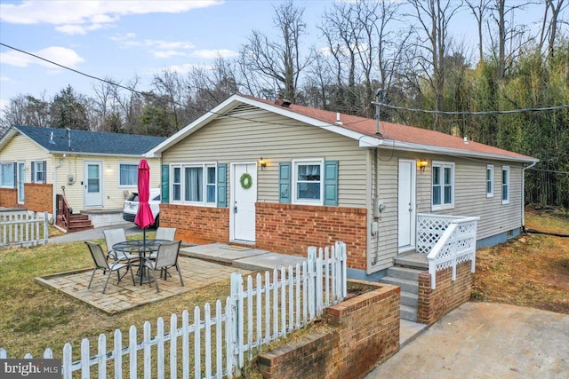
{"type": "Polygon", "coordinates": [[[217,167],[215,163],[172,165],[172,201],[215,205],[217,167]]]}

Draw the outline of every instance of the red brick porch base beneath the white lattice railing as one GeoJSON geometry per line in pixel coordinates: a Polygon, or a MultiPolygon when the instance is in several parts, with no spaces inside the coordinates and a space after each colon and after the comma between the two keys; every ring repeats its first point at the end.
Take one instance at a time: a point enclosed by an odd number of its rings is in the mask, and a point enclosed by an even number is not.
{"type": "Polygon", "coordinates": [[[430,288],[429,272],[419,275],[419,307],[417,322],[433,324],[446,313],[469,301],[474,274],[470,272],[470,261],[456,267],[456,280],[452,280],[453,269],[449,267],[437,272],[437,288],[430,288]]]}

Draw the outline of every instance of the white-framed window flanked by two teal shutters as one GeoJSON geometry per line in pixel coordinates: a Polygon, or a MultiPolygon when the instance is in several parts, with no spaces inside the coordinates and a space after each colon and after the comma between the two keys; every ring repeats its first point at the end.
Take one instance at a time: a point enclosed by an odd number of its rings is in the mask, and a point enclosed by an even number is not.
{"type": "Polygon", "coordinates": [[[324,159],[293,161],[293,203],[324,203],[324,159]]]}

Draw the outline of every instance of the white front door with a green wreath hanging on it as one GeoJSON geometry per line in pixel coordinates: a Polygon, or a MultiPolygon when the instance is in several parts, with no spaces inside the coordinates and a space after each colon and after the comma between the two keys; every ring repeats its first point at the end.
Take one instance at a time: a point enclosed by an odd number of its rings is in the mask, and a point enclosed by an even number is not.
{"type": "Polygon", "coordinates": [[[257,201],[256,162],[232,164],[230,201],[230,239],[254,242],[255,202],[257,201]],[[250,180],[249,177],[251,177],[250,180]]]}

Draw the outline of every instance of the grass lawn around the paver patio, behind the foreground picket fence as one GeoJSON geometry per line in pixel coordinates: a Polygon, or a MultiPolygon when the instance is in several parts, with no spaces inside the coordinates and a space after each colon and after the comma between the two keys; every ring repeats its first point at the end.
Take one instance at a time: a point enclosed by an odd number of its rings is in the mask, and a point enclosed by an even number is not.
{"type": "Polygon", "coordinates": [[[101,333],[112,336],[116,328],[126,333],[131,325],[141,330],[146,320],[156,328],[158,317],[169,322],[172,313],[181,317],[188,309],[193,314],[197,305],[213,305],[217,299],[224,302],[229,295],[227,279],[111,316],[36,283],[38,276],[92,267],[92,257],[82,241],[2,249],[0,267],[0,347],[12,358],[23,358],[28,352],[38,358],[48,347],[60,357],[65,343],[78,350],[86,337],[96,346],[101,333]]]}

